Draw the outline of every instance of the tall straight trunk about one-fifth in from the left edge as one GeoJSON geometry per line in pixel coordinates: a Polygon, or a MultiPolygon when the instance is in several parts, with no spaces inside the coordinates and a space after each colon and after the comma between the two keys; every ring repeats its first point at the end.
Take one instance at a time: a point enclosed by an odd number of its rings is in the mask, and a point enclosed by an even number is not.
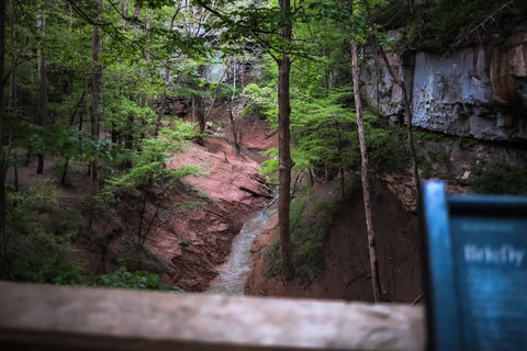
{"type": "MultiPolygon", "coordinates": [[[[102,19],[102,0],[97,0],[97,14],[98,21],[102,19]]],[[[93,25],[93,34],[91,37],[91,59],[92,59],[92,75],[91,75],[91,138],[92,140],[99,139],[99,120],[100,120],[100,99],[101,99],[101,77],[102,68],[99,60],[99,24],[93,25]]],[[[99,172],[98,161],[93,160],[91,165],[91,181],[92,181],[92,194],[99,192],[99,172]]]]}

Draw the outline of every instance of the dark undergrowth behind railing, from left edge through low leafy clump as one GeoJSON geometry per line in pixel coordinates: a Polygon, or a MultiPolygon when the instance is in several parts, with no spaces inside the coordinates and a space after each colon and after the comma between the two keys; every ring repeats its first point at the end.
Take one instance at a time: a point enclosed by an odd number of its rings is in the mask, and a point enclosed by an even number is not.
{"type": "Polygon", "coordinates": [[[4,273],[8,280],[61,285],[94,285],[166,290],[156,273],[160,263],[144,248],[126,247],[117,258],[116,272],[88,276],[85,265],[75,260],[72,240],[86,224],[59,196],[49,179],[38,180],[25,192],[8,186],[4,273]],[[146,263],[145,263],[146,262],[146,263]]]}

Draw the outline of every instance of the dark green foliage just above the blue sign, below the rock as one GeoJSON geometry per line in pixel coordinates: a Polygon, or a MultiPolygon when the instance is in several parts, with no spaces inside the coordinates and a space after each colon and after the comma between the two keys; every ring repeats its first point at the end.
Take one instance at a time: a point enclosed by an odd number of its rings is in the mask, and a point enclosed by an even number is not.
{"type": "Polygon", "coordinates": [[[527,169],[504,163],[476,166],[469,177],[469,186],[473,193],[527,195],[527,169]]]}

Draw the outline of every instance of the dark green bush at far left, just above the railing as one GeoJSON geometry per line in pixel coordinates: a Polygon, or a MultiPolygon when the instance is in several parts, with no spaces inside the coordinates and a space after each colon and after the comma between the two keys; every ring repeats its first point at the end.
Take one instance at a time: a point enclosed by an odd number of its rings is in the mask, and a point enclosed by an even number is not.
{"type": "Polygon", "coordinates": [[[59,196],[53,182],[44,180],[26,194],[7,192],[5,267],[9,280],[54,284],[83,284],[83,268],[70,257],[75,229],[56,231],[59,196]]]}

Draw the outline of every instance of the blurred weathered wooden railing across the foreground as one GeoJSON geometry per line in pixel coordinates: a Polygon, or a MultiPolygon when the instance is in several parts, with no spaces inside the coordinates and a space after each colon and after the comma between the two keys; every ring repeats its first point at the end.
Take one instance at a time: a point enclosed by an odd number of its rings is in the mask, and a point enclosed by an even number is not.
{"type": "Polygon", "coordinates": [[[422,306],[0,282],[0,350],[424,350],[422,306]]]}

